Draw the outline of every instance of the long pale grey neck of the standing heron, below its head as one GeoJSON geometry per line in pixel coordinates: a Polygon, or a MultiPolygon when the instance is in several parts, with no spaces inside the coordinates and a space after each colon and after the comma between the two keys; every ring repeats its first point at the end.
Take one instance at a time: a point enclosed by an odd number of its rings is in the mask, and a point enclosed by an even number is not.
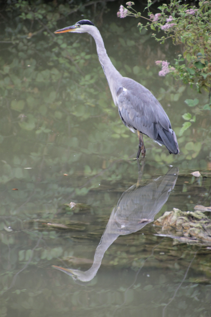
{"type": "Polygon", "coordinates": [[[122,78],[122,75],[116,70],[109,56],[107,55],[107,52],[102,40],[102,36],[99,30],[95,27],[89,33],[91,36],[94,37],[94,40],[96,42],[97,55],[101,63],[102,69],[105,73],[105,76],[108,81],[111,94],[115,103],[115,96],[116,96],[117,90],[120,87],[120,80],[122,78]]]}

